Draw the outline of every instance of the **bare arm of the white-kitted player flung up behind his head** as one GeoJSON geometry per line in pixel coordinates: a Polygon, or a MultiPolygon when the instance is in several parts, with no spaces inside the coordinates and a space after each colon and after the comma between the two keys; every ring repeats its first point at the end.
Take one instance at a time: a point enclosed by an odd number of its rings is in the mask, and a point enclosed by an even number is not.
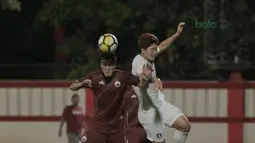
{"type": "Polygon", "coordinates": [[[182,29],[183,26],[185,25],[184,22],[180,22],[178,27],[177,27],[177,31],[174,35],[172,35],[171,37],[165,39],[164,41],[162,41],[159,45],[159,53],[165,51],[169,46],[171,46],[173,44],[173,42],[179,37],[179,35],[182,33],[182,29]]]}

